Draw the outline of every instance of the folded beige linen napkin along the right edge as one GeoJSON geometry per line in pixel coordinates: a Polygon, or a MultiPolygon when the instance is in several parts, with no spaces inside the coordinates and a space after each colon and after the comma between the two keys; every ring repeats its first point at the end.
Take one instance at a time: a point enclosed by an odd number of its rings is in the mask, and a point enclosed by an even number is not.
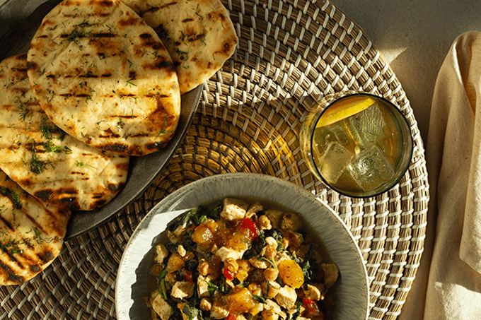
{"type": "Polygon", "coordinates": [[[481,319],[481,33],[453,43],[426,146],[431,201],[417,278],[398,320],[481,319]]]}

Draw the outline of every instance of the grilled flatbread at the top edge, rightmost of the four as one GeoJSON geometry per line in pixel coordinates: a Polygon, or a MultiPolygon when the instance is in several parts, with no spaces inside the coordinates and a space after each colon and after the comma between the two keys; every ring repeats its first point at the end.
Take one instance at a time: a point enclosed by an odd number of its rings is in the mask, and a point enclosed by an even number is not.
{"type": "Polygon", "coordinates": [[[207,81],[236,49],[236,30],[220,0],[122,1],[161,37],[174,61],[181,94],[207,81]]]}

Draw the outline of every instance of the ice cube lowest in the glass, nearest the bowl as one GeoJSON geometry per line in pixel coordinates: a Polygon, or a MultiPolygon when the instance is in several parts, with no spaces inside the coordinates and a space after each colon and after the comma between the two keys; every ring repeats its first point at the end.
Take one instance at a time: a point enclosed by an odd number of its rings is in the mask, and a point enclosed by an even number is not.
{"type": "Polygon", "coordinates": [[[376,145],[355,155],[347,168],[364,191],[377,189],[394,177],[393,165],[376,145]]]}

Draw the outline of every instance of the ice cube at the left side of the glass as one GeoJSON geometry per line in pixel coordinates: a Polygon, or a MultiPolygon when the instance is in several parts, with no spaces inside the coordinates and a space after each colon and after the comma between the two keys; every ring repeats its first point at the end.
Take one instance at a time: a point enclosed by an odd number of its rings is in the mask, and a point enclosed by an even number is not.
{"type": "Polygon", "coordinates": [[[354,153],[341,146],[340,143],[330,142],[317,163],[320,175],[328,183],[335,184],[342,172],[346,170],[352,157],[354,157],[354,153]]]}

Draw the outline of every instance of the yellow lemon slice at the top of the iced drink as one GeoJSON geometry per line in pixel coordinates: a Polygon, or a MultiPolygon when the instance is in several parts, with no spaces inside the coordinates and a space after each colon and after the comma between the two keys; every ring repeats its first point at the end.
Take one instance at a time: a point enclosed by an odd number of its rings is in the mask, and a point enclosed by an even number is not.
{"type": "Polygon", "coordinates": [[[335,107],[332,109],[328,108],[320,117],[315,127],[320,128],[321,126],[329,126],[330,124],[341,121],[342,119],[349,118],[354,114],[371,107],[371,105],[374,103],[376,103],[376,101],[370,97],[358,97],[357,99],[347,100],[345,103],[342,102],[340,107],[335,107]],[[359,101],[360,99],[361,101],[359,101]]]}

